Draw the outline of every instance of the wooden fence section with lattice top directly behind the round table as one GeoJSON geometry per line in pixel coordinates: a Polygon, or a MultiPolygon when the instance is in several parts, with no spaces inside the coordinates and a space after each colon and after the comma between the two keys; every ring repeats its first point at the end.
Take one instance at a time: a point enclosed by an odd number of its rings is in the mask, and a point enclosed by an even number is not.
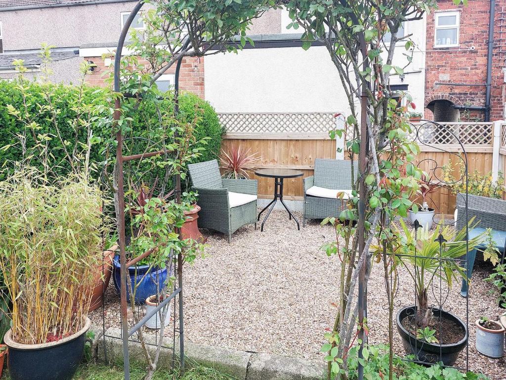
{"type": "MultiPolygon", "coordinates": [[[[315,158],[335,159],[335,140],[328,131],[335,128],[330,112],[315,113],[220,113],[226,128],[222,146],[225,150],[241,145],[261,155],[259,168],[297,169],[304,177],[313,175],[315,158]]],[[[272,198],[274,180],[259,180],[259,198],[272,198]]],[[[284,181],[284,198],[302,200],[302,178],[284,181]]]]}

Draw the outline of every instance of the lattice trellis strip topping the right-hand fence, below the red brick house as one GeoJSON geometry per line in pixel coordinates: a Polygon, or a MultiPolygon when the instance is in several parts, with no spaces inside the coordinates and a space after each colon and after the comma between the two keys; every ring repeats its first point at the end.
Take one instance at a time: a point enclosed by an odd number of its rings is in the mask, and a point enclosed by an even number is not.
{"type": "Polygon", "coordinates": [[[492,145],[492,123],[445,123],[442,127],[422,123],[411,133],[411,138],[425,144],[492,145]]]}

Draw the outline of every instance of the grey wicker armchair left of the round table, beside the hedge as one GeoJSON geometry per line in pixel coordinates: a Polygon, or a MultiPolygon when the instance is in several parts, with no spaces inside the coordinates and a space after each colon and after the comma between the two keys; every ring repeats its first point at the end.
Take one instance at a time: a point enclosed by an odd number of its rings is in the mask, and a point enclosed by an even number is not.
{"type": "Polygon", "coordinates": [[[199,227],[227,235],[246,224],[257,222],[257,187],[255,179],[222,178],[218,161],[188,165],[194,191],[198,192],[199,227]]]}

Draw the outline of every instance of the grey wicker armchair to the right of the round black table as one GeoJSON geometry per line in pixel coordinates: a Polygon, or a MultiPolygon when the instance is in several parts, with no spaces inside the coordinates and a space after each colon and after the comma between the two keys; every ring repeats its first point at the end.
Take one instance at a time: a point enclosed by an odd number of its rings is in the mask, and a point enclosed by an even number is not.
{"type": "MultiPolygon", "coordinates": [[[[306,225],[306,219],[324,219],[329,216],[338,217],[341,213],[343,201],[336,198],[335,193],[339,191],[349,191],[352,189],[351,161],[348,160],[326,160],[316,159],[314,175],[304,178],[304,219],[303,225],[306,225]],[[308,194],[311,188],[317,186],[323,189],[326,197],[308,194]],[[328,190],[328,191],[325,191],[328,190]]],[[[358,176],[358,162],[353,162],[354,177],[358,176]]],[[[313,193],[317,194],[317,193],[313,193]]],[[[323,193],[322,193],[323,194],[323,193]]]]}

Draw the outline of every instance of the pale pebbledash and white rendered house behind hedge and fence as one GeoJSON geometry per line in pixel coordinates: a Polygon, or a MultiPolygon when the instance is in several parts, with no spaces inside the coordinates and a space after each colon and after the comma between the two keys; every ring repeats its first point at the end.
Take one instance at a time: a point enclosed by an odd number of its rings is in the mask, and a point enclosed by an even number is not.
{"type": "MultiPolygon", "coordinates": [[[[505,0],[506,1],[506,0],[505,0]]],[[[88,75],[92,85],[104,86],[110,59],[103,54],[115,50],[122,24],[135,0],[0,0],[0,79],[12,78],[14,59],[24,59],[35,77],[40,71],[37,52],[41,42],[52,49],[53,82],[75,83],[83,60],[96,67],[88,75]]],[[[180,89],[209,101],[218,112],[343,112],[349,104],[339,75],[325,47],[301,49],[300,30],[287,30],[288,12],[270,10],[256,19],[249,33],[255,48],[238,54],[216,54],[186,58],[182,65],[180,89]],[[204,64],[205,63],[205,64],[204,64]]],[[[142,19],[133,25],[142,28],[142,19]]],[[[424,103],[425,20],[404,26],[417,44],[413,64],[391,84],[407,89],[416,104],[424,103]]],[[[398,49],[404,66],[403,44],[398,49]]],[[[175,67],[158,82],[166,89],[174,83],[175,67]]]]}

